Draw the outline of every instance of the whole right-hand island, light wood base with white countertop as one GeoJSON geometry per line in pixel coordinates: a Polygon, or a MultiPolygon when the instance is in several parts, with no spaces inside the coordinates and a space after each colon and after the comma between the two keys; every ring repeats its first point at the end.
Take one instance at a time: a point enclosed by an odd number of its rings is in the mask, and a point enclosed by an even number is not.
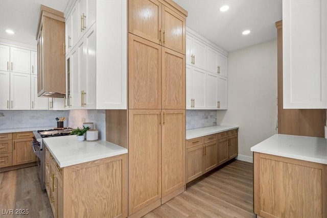
{"type": "Polygon", "coordinates": [[[327,139],[276,134],[251,151],[254,213],[327,217],[327,139]]]}

